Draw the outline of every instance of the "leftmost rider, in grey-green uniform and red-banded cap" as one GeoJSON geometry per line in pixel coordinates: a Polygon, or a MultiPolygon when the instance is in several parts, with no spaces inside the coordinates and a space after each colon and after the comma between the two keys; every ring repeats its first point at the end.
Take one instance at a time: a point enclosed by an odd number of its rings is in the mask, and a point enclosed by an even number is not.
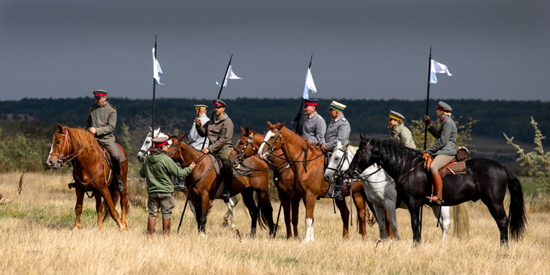
{"type": "Polygon", "coordinates": [[[117,179],[117,188],[120,192],[124,190],[122,177],[120,175],[120,157],[115,144],[116,108],[107,102],[107,91],[98,89],[94,91],[96,104],[91,105],[84,129],[94,136],[111,153],[113,173],[117,179]]]}

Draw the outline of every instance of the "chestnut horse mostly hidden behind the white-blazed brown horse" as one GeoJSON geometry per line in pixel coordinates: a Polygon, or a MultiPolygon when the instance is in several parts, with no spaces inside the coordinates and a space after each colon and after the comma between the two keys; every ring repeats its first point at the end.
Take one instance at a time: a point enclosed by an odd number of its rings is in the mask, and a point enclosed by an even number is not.
{"type": "MultiPolygon", "coordinates": [[[[237,159],[243,159],[256,155],[258,152],[265,135],[250,131],[248,127],[241,127],[241,138],[239,142],[236,142],[234,149],[239,153],[237,159]]],[[[267,165],[273,170],[274,183],[278,190],[279,200],[283,206],[283,212],[285,215],[285,225],[287,228],[287,239],[292,237],[292,231],[290,228],[291,211],[292,211],[292,227],[294,229],[294,238],[298,238],[298,208],[300,206],[300,194],[296,191],[296,185],[294,184],[294,171],[290,168],[290,165],[285,160],[283,151],[281,149],[274,150],[267,157],[267,165]]],[[[366,237],[366,210],[364,203],[369,206],[371,212],[374,213],[374,209],[371,203],[362,197],[362,192],[355,192],[356,188],[362,188],[362,186],[353,186],[353,201],[358,211],[359,219],[359,231],[363,238],[366,237]]],[[[390,234],[388,232],[388,234],[390,234]]]]}

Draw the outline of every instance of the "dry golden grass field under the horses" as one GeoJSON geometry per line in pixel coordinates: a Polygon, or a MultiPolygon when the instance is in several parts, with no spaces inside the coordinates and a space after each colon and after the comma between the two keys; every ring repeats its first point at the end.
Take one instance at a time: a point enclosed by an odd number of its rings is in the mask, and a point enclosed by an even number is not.
{"type": "MultiPolygon", "coordinates": [[[[190,212],[175,234],[184,204],[181,197],[176,199],[173,235],[147,237],[147,214],[136,205],[129,213],[127,232],[120,232],[110,218],[98,230],[94,199],[85,199],[83,228],[74,231],[70,177],[55,172],[25,174],[19,194],[20,176],[0,174],[2,274],[550,274],[550,213],[529,207],[527,235],[511,241],[509,248],[500,247],[496,224],[479,202],[467,203],[470,236],[458,239],[451,228],[445,243],[426,209],[423,240],[417,247],[411,241],[406,210],[397,210],[401,241],[378,243],[376,225],[367,228],[365,240],[355,226],[350,238],[342,240],[342,223],[330,200],[316,205],[313,243],[284,239],[284,228],[276,239],[270,239],[266,230],[249,238],[250,220],[242,203],[236,211],[239,239],[235,230],[221,227],[225,213],[221,201],[214,202],[206,236],[197,235],[190,212]]],[[[140,199],[146,203],[140,181],[131,181],[129,190],[135,204],[140,199]]],[[[273,206],[278,210],[278,202],[273,206]]],[[[303,205],[300,208],[303,236],[303,205]]]]}

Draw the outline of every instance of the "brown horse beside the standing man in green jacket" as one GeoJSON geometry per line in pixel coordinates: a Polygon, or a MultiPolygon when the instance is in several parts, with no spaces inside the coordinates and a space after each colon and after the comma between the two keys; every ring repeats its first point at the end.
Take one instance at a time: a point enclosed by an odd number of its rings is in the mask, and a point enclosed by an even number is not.
{"type": "MultiPolygon", "coordinates": [[[[174,137],[168,133],[168,137],[172,142],[168,147],[169,157],[181,162],[181,166],[188,166],[191,162],[197,164],[192,173],[186,177],[186,183],[188,183],[189,199],[195,207],[195,219],[197,220],[199,234],[204,234],[206,232],[206,215],[210,210],[210,200],[218,199],[221,195],[223,176],[216,174],[214,163],[208,157],[208,154],[202,153],[182,141],[185,134],[174,137]]],[[[231,156],[236,157],[236,152],[233,151],[231,156]]],[[[256,234],[256,222],[259,216],[261,216],[260,226],[263,227],[263,224],[267,223],[270,228],[270,235],[273,235],[275,227],[269,193],[269,167],[257,157],[250,159],[250,166],[254,168],[250,175],[233,178],[231,196],[239,193],[243,195],[243,201],[252,219],[250,236],[256,234]],[[259,207],[254,203],[254,191],[257,194],[259,207]]]]}

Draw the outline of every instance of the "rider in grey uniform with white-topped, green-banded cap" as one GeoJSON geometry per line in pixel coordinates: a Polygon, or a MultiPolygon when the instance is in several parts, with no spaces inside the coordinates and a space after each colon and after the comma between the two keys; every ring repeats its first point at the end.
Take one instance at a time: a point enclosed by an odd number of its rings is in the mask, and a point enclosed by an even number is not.
{"type": "MultiPolygon", "coordinates": [[[[336,148],[336,144],[340,142],[341,144],[346,144],[349,140],[349,133],[351,132],[351,126],[344,114],[342,113],[346,109],[346,105],[332,101],[329,108],[329,115],[331,117],[331,122],[327,126],[327,133],[325,133],[325,142],[321,144],[321,151],[331,155],[336,148]]],[[[344,199],[342,197],[342,186],[344,181],[342,177],[338,177],[336,180],[336,187],[334,188],[333,197],[339,200],[344,199]]]]}

